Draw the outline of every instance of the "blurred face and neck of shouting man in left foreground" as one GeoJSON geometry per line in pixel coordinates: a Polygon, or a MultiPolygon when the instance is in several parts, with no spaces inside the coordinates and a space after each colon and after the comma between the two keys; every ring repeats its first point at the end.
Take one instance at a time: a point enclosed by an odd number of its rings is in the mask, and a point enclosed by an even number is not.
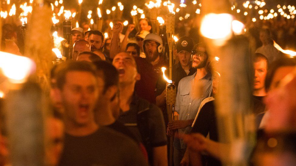
{"type": "Polygon", "coordinates": [[[98,98],[97,78],[90,72],[70,71],[60,90],[65,107],[65,123],[87,126],[94,122],[93,109],[98,98]]]}

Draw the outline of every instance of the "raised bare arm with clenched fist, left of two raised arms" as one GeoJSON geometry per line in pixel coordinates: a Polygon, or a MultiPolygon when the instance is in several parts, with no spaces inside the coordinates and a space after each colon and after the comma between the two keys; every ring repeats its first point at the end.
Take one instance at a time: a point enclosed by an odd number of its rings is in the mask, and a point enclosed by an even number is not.
{"type": "Polygon", "coordinates": [[[112,38],[110,43],[110,58],[113,59],[119,53],[118,36],[122,30],[121,24],[115,24],[112,28],[112,38]]]}

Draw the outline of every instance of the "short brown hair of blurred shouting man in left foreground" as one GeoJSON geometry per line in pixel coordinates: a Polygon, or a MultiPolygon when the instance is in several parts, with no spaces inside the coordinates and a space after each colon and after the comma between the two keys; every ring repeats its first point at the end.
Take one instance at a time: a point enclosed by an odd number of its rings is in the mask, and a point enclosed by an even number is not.
{"type": "Polygon", "coordinates": [[[66,75],[71,71],[84,71],[96,76],[96,67],[92,63],[86,61],[68,60],[59,64],[55,70],[57,88],[61,90],[63,89],[63,86],[66,83],[66,75]]]}

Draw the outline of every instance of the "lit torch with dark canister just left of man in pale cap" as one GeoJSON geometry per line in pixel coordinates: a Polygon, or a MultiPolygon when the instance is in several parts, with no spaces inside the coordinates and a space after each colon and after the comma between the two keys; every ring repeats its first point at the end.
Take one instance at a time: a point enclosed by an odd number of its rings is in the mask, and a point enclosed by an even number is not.
{"type": "Polygon", "coordinates": [[[63,21],[63,36],[67,40],[68,44],[64,45],[65,48],[65,57],[69,58],[69,44],[70,44],[70,35],[72,29],[72,23],[69,20],[71,17],[71,11],[65,11],[65,21],[63,21]]]}

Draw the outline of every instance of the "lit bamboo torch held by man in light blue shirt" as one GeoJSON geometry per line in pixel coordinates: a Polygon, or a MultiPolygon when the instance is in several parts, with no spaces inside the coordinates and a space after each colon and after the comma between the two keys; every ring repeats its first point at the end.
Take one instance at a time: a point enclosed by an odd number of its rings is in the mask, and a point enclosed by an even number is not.
{"type": "MultiPolygon", "coordinates": [[[[173,120],[177,120],[174,117],[173,114],[173,106],[176,103],[176,85],[173,83],[172,80],[169,80],[164,71],[166,70],[165,67],[161,68],[162,72],[163,72],[163,79],[165,79],[167,81],[167,86],[166,86],[166,94],[167,94],[167,117],[168,117],[168,122],[172,122],[173,120]]],[[[173,165],[173,138],[174,136],[171,135],[170,136],[170,155],[169,155],[169,165],[173,165]]]]}

